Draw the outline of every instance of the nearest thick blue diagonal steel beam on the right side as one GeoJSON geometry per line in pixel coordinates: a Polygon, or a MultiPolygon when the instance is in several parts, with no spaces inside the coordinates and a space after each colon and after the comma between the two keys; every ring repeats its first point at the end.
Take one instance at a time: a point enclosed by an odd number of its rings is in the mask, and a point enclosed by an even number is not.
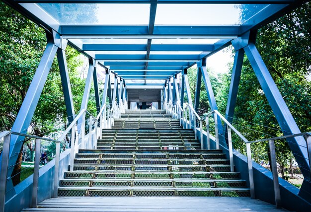
{"type": "MultiPolygon", "coordinates": [[[[258,78],[262,90],[272,108],[272,111],[283,131],[284,135],[299,134],[301,133],[289,108],[287,107],[278,87],[276,86],[271,74],[269,73],[266,65],[264,64],[255,44],[250,43],[244,48],[247,58],[258,78]]],[[[310,192],[311,188],[311,175],[310,164],[308,159],[308,151],[306,141],[301,137],[288,139],[288,144],[295,156],[297,163],[305,177],[301,192],[310,192]],[[309,183],[308,183],[308,182],[309,183]]],[[[309,198],[310,199],[310,194],[309,198]]]]}

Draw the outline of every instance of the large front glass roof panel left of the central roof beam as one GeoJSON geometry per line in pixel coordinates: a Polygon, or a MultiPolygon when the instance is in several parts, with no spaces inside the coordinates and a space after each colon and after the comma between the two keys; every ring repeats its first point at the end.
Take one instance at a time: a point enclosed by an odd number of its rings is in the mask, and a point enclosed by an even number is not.
{"type": "Polygon", "coordinates": [[[148,25],[150,4],[38,3],[60,24],[148,25]]]}

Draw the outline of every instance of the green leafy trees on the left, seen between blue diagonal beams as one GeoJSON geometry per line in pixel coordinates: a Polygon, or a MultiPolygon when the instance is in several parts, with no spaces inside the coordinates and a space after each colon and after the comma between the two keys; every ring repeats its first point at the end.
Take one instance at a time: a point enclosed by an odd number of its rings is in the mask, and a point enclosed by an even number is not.
{"type": "MultiPolygon", "coordinates": [[[[38,25],[0,2],[0,130],[10,130],[19,108],[25,98],[30,82],[46,47],[45,32],[38,25]]],[[[66,49],[66,57],[74,106],[79,111],[85,79],[79,77],[81,66],[79,53],[71,47],[66,49]]],[[[90,101],[90,108],[94,101],[90,101]]],[[[48,74],[37,108],[30,124],[29,134],[44,136],[64,129],[67,113],[62,84],[56,58],[48,74]]],[[[31,141],[24,143],[34,151],[31,141]]],[[[20,172],[22,149],[12,176],[20,172]]],[[[13,182],[19,182],[19,174],[13,182]]]]}

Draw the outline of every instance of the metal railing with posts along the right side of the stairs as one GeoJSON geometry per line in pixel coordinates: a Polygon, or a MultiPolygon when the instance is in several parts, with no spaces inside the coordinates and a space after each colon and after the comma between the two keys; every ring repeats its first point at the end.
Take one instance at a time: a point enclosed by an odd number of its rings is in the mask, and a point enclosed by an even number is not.
{"type": "MultiPolygon", "coordinates": [[[[185,107],[182,108],[179,102],[172,103],[171,100],[167,102],[164,100],[163,108],[166,109],[167,113],[172,114],[172,118],[180,120],[180,126],[184,129],[193,129],[195,133],[195,138],[197,138],[197,130],[200,131],[200,142],[201,148],[203,149],[203,126],[202,122],[205,120],[206,122],[206,135],[207,135],[207,149],[211,149],[210,145],[210,124],[209,124],[209,117],[212,116],[215,123],[215,142],[216,142],[216,149],[219,149],[219,133],[218,133],[218,117],[227,125],[227,135],[228,135],[228,150],[229,150],[229,158],[230,158],[230,169],[234,171],[234,163],[233,163],[233,144],[232,144],[232,134],[233,131],[245,144],[246,144],[246,156],[247,156],[247,166],[248,166],[248,178],[249,178],[249,185],[250,185],[250,195],[251,198],[255,198],[255,189],[254,189],[254,179],[253,179],[253,166],[252,166],[252,156],[251,156],[251,143],[255,142],[265,142],[269,141],[269,150],[271,156],[271,170],[273,175],[273,184],[274,184],[274,195],[275,195],[275,203],[277,208],[281,208],[281,196],[280,196],[280,188],[279,188],[279,181],[278,181],[278,170],[277,170],[277,161],[276,161],[276,153],[275,153],[275,145],[274,141],[281,140],[281,139],[288,139],[294,137],[304,137],[306,144],[307,144],[307,151],[308,151],[308,159],[309,164],[311,164],[311,133],[299,133],[294,135],[287,135],[263,140],[256,140],[256,141],[248,141],[238,130],[236,130],[233,125],[219,113],[219,111],[214,110],[205,114],[204,116],[200,117],[192,105],[188,103],[184,103],[185,107]],[[199,122],[199,129],[196,126],[196,120],[199,122]]],[[[311,168],[310,168],[311,172],[311,168]]]]}

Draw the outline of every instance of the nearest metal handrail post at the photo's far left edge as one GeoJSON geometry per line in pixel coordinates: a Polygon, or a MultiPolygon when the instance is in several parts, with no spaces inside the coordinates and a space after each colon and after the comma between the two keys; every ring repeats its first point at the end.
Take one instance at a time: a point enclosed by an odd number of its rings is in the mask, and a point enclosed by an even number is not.
{"type": "Polygon", "coordinates": [[[4,212],[5,205],[5,190],[6,190],[6,175],[8,166],[8,157],[10,151],[10,138],[11,134],[4,136],[3,148],[2,148],[2,163],[1,163],[1,175],[0,175],[0,212],[4,212]]]}

